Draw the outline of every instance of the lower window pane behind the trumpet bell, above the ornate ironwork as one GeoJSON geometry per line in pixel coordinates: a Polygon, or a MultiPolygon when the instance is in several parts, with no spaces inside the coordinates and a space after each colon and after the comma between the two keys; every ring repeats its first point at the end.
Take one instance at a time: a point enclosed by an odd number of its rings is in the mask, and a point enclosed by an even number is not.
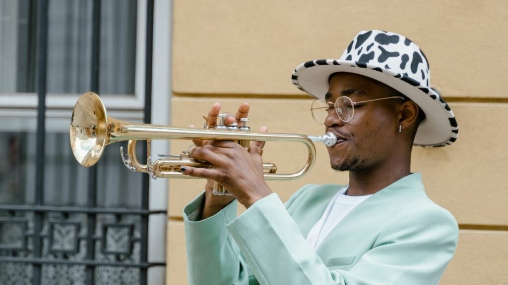
{"type": "MultiPolygon", "coordinates": [[[[9,129],[0,131],[0,203],[34,204],[35,158],[37,147],[36,120],[2,118],[9,129]]],[[[81,166],[71,150],[68,119],[46,120],[44,165],[44,204],[86,206],[88,168],[81,166]]],[[[143,144],[139,144],[139,151],[143,144]]],[[[141,177],[127,169],[121,160],[119,147],[126,142],[106,147],[98,162],[99,207],[141,206],[141,177]]],[[[140,157],[140,152],[138,152],[140,157]]]]}

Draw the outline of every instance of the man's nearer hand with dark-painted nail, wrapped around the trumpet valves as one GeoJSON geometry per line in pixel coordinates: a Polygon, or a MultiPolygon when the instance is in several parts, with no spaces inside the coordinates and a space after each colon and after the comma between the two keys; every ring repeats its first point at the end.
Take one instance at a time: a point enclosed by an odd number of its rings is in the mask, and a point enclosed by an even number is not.
{"type": "MultiPolygon", "coordinates": [[[[266,127],[262,127],[259,132],[266,130],[266,127]]],[[[248,208],[272,193],[264,179],[263,146],[263,141],[251,141],[250,149],[246,151],[234,141],[215,140],[192,151],[193,158],[212,163],[212,168],[185,166],[180,171],[185,175],[218,182],[248,208]]]]}

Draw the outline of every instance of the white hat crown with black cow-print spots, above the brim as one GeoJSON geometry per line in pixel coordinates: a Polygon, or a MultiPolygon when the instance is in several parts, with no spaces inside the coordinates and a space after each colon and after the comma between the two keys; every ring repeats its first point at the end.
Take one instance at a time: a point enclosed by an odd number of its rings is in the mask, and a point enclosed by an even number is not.
{"type": "Polygon", "coordinates": [[[339,60],[361,62],[412,81],[412,85],[429,88],[430,68],[420,47],[403,35],[369,30],[359,32],[339,60]]]}

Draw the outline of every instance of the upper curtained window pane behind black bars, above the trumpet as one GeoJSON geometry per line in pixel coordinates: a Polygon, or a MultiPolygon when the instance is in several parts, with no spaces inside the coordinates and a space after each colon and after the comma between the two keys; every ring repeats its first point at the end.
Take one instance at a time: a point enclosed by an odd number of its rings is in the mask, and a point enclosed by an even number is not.
{"type": "MultiPolygon", "coordinates": [[[[0,93],[36,90],[36,1],[0,0],[0,93]]],[[[104,0],[101,7],[101,94],[134,94],[136,0],[104,0]]],[[[50,0],[47,91],[90,89],[92,1],[50,0]]]]}

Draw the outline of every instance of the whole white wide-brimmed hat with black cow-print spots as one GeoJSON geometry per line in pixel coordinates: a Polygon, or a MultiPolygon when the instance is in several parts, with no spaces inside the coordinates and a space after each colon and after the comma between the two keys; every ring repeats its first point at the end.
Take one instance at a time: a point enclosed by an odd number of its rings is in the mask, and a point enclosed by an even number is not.
{"type": "Polygon", "coordinates": [[[304,62],[292,75],[293,84],[318,99],[325,99],[330,75],[348,72],[382,82],[417,103],[425,113],[414,144],[440,147],[457,139],[459,128],[446,101],[430,88],[427,58],[417,44],[403,35],[361,31],[339,59],[304,62]]]}

